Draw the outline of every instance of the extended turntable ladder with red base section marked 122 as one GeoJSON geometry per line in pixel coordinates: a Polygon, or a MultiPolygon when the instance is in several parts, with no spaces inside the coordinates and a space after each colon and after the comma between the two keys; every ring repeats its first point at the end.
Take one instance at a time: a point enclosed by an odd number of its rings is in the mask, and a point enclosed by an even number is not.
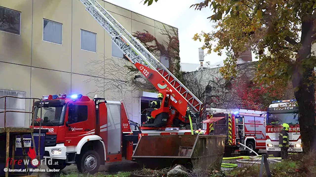
{"type": "Polygon", "coordinates": [[[203,103],[191,93],[159,60],[133,37],[97,0],[79,0],[91,16],[111,36],[123,54],[157,88],[171,92],[172,106],[185,117],[187,107],[200,113],[203,103]]]}

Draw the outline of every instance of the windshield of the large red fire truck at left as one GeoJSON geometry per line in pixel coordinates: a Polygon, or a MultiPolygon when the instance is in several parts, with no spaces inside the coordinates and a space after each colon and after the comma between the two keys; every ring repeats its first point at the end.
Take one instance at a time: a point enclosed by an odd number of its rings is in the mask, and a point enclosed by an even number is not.
{"type": "Polygon", "coordinates": [[[42,126],[60,126],[64,124],[64,117],[65,117],[66,106],[45,106],[42,107],[42,119],[41,117],[41,110],[40,107],[35,106],[34,111],[34,125],[41,125],[42,126]]]}

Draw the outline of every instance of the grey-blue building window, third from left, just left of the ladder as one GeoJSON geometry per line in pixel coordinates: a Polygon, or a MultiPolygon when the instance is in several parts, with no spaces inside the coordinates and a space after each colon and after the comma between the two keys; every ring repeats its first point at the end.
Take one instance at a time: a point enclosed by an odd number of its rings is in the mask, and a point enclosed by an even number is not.
{"type": "Polygon", "coordinates": [[[81,49],[82,50],[88,50],[90,52],[97,52],[97,34],[81,30],[81,49]]]}

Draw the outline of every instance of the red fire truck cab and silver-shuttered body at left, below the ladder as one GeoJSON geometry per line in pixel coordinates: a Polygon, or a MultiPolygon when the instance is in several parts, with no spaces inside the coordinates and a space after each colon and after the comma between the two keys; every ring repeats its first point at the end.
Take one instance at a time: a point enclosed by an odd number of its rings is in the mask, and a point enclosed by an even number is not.
{"type": "Polygon", "coordinates": [[[58,162],[48,167],[76,163],[80,172],[93,174],[105,162],[131,160],[137,135],[132,135],[125,110],[123,102],[96,95],[93,100],[82,94],[48,95],[36,101],[34,128],[48,130],[44,157],[58,162]]]}

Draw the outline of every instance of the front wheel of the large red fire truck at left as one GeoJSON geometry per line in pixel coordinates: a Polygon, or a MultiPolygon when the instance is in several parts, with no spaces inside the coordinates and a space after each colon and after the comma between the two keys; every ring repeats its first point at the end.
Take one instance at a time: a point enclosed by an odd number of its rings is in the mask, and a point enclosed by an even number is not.
{"type": "Polygon", "coordinates": [[[80,156],[77,168],[80,173],[95,174],[100,167],[100,156],[96,151],[89,150],[80,156]]]}

